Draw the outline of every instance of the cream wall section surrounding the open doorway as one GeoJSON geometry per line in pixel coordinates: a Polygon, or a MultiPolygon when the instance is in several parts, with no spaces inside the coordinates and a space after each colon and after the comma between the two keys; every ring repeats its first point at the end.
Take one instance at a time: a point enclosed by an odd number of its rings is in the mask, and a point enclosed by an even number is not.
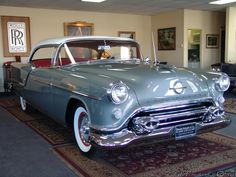
{"type": "MultiPolygon", "coordinates": [[[[225,26],[225,13],[184,10],[184,66],[188,66],[188,29],[202,30],[201,36],[201,68],[210,69],[211,65],[220,61],[220,46],[206,48],[206,34],[218,34],[225,26]]],[[[220,40],[220,38],[219,38],[220,40]]]]}

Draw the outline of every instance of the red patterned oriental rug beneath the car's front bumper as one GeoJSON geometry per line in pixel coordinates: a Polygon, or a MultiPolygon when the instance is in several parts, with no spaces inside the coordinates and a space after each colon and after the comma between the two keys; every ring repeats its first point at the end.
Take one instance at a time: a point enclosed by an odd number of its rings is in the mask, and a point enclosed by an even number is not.
{"type": "Polygon", "coordinates": [[[122,149],[98,150],[90,158],[83,156],[75,144],[54,150],[77,174],[90,177],[190,177],[236,166],[236,140],[215,133],[189,140],[149,141],[122,149]]]}

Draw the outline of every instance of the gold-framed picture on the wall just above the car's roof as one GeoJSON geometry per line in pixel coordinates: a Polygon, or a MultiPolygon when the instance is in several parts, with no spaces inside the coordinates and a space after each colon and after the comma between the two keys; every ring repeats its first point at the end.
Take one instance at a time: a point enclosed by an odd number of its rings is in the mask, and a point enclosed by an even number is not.
{"type": "Polygon", "coordinates": [[[93,35],[94,24],[87,22],[64,23],[65,36],[91,36],[93,35]]]}

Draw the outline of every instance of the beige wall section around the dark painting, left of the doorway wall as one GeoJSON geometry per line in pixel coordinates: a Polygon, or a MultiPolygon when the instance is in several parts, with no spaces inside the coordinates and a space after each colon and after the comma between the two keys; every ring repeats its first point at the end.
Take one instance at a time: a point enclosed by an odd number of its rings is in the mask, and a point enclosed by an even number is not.
{"type": "Polygon", "coordinates": [[[157,46],[157,30],[161,28],[176,27],[176,50],[157,50],[157,56],[160,61],[166,61],[169,64],[183,66],[183,26],[184,11],[177,10],[172,12],[163,12],[152,16],[152,32],[157,46]]]}

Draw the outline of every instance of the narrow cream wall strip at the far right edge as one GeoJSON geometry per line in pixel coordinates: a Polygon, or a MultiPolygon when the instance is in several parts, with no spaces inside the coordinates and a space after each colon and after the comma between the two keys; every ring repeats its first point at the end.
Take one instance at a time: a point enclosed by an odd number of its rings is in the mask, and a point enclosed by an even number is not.
{"type": "Polygon", "coordinates": [[[236,7],[226,9],[225,60],[236,63],[236,7]]]}

